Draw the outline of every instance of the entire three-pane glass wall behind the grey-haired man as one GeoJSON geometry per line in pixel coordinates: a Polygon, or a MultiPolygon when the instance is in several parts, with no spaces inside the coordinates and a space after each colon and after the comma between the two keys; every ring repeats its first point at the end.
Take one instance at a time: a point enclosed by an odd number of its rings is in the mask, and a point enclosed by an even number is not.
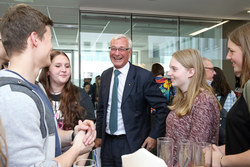
{"type": "Polygon", "coordinates": [[[187,48],[199,50],[203,57],[212,60],[214,66],[222,67],[222,27],[210,28],[220,22],[81,11],[80,53],[78,58],[74,56],[74,66],[78,66],[74,67],[74,82],[82,85],[86,74],[91,73],[94,83],[95,76],[112,67],[108,47],[115,34],[131,37],[133,46],[130,61],[148,70],[151,70],[153,63],[158,62],[168,71],[172,54],[187,48]],[[210,29],[192,34],[204,28],[210,29]]]}

